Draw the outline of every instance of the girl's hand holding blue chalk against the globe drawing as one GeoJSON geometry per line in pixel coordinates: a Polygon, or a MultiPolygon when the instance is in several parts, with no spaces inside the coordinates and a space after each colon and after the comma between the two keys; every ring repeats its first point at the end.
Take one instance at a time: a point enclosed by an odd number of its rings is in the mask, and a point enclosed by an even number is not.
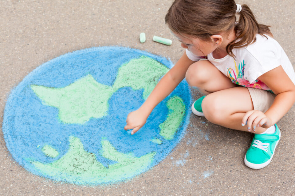
{"type": "Polygon", "coordinates": [[[147,122],[148,116],[144,115],[142,111],[139,109],[136,111],[132,111],[128,114],[126,120],[126,126],[124,126],[125,130],[133,129],[131,131],[131,135],[136,133],[144,124],[147,122]]]}

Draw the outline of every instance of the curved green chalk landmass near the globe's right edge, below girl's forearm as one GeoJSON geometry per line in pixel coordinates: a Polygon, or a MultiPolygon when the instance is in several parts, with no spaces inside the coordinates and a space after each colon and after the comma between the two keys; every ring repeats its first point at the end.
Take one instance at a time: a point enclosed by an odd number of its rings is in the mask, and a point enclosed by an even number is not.
{"type": "Polygon", "coordinates": [[[171,97],[166,106],[168,107],[167,119],[159,125],[160,135],[166,140],[171,140],[185,114],[185,104],[179,96],[171,97]]]}

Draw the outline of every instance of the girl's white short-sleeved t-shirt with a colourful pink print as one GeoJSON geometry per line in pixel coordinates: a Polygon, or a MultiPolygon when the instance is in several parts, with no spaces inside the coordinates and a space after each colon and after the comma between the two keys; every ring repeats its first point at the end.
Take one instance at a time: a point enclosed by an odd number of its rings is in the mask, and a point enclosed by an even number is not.
{"type": "MultiPolygon", "coordinates": [[[[232,51],[237,61],[230,55],[215,59],[212,53],[208,55],[208,60],[233,83],[271,91],[257,78],[281,65],[295,85],[293,66],[283,48],[272,37],[267,36],[266,38],[257,34],[256,42],[244,48],[234,48],[232,51]]],[[[187,49],[186,54],[192,61],[199,61],[203,58],[192,54],[187,49]]]]}

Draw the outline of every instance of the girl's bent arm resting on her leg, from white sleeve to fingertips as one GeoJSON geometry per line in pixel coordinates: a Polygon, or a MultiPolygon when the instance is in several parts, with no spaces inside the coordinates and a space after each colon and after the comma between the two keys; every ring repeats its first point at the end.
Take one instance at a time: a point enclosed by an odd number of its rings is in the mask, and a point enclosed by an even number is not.
{"type": "MultiPolygon", "coordinates": [[[[263,128],[269,128],[279,121],[293,106],[295,102],[295,85],[286,74],[282,66],[278,66],[273,70],[266,72],[258,77],[259,80],[264,82],[277,96],[273,101],[273,104],[264,113],[264,116],[252,118],[250,127],[261,126],[263,128]],[[266,123],[266,125],[265,125],[266,123]],[[252,125],[251,125],[252,124],[252,125]]],[[[247,112],[248,113],[248,112],[247,112]]],[[[246,120],[251,118],[251,111],[242,119],[242,123],[246,123],[246,120]]]]}

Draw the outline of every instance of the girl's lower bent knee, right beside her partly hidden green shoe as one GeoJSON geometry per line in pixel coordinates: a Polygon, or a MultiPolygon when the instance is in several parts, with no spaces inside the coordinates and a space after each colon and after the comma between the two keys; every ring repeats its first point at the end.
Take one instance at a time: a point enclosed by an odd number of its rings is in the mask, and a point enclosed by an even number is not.
{"type": "Polygon", "coordinates": [[[223,104],[218,101],[218,97],[211,93],[207,95],[202,101],[202,110],[205,118],[211,123],[220,124],[224,119],[223,104]]]}

